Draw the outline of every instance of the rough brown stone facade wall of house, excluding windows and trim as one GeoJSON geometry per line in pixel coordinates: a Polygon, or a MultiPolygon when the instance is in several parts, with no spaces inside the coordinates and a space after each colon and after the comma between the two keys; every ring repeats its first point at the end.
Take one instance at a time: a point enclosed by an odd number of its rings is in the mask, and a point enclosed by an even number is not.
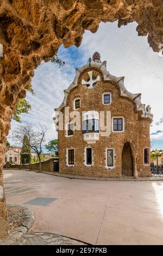
{"type": "MultiPolygon", "coordinates": [[[[95,144],[87,144],[83,140],[82,129],[75,130],[74,135],[65,137],[66,131],[59,131],[59,172],[73,175],[98,176],[98,177],[120,177],[122,175],[122,150],[124,143],[129,142],[133,156],[137,156],[139,176],[151,175],[150,166],[143,164],[143,148],[149,147],[149,126],[151,120],[142,119],[142,112],[136,112],[134,102],[126,97],[120,96],[116,84],[102,80],[101,72],[93,70],[93,77],[98,75],[101,81],[96,86],[88,89],[82,85],[82,79],[87,81],[89,78],[87,72],[93,68],[85,70],[79,77],[78,86],[73,88],[67,97],[66,106],[70,107],[70,113],[73,111],[73,101],[76,97],[80,97],[81,107],[78,109],[80,117],[82,111],[111,111],[112,117],[124,117],[124,132],[111,132],[110,136],[101,136],[95,144]],[[102,94],[110,92],[112,102],[110,105],[104,105],[102,94]],[[84,164],[84,148],[91,146],[93,148],[93,166],[85,167],[84,164]],[[68,167],[66,165],[66,148],[75,150],[75,165],[68,167]],[[105,168],[105,148],[115,149],[115,168],[105,168]]],[[[62,109],[64,113],[64,109],[62,109]]],[[[71,121],[71,119],[70,119],[71,121]]],[[[80,118],[80,126],[82,127],[82,118],[80,118]]]]}

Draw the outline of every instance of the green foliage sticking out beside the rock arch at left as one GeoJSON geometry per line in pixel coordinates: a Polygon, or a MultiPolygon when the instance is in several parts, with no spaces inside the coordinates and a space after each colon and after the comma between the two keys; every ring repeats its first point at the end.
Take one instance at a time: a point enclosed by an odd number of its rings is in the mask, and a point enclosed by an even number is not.
{"type": "MultiPolygon", "coordinates": [[[[35,95],[34,90],[32,88],[32,84],[29,85],[29,87],[26,89],[27,92],[32,93],[32,95],[35,95]]],[[[19,99],[16,107],[16,111],[13,114],[13,119],[17,121],[18,123],[21,123],[21,117],[20,115],[22,113],[28,114],[29,110],[31,109],[30,103],[26,99],[19,99]]]]}

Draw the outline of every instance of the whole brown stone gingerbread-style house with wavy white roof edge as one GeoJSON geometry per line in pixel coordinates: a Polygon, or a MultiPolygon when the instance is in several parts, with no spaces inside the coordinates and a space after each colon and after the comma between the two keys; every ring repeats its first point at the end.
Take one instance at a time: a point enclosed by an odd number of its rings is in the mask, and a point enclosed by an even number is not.
{"type": "Polygon", "coordinates": [[[128,92],[124,77],[109,73],[98,52],[82,68],[76,68],[76,76],[64,93],[54,118],[60,173],[115,178],[151,176],[151,108],[141,103],[140,93],[128,92]],[[80,129],[71,112],[80,115],[80,129]]]}

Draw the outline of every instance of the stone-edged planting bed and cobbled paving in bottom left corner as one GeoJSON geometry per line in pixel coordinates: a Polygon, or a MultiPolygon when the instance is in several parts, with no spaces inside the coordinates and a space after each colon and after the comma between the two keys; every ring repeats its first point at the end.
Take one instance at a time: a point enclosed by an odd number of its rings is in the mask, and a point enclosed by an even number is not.
{"type": "Polygon", "coordinates": [[[29,232],[28,229],[32,227],[35,216],[32,211],[22,205],[8,204],[8,214],[9,212],[10,234],[0,240],[0,245],[86,245],[86,243],[61,235],[29,232]],[[10,209],[14,211],[10,211],[10,209]],[[18,211],[20,210],[23,212],[22,216],[19,216],[18,211]],[[12,229],[12,224],[15,223],[17,225],[12,229]]]}

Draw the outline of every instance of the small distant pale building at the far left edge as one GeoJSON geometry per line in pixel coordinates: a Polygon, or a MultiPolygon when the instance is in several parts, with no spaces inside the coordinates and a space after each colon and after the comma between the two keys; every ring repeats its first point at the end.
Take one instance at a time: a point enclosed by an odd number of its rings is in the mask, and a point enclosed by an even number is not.
{"type": "Polygon", "coordinates": [[[10,146],[5,148],[5,163],[20,164],[21,147],[10,146]]]}

